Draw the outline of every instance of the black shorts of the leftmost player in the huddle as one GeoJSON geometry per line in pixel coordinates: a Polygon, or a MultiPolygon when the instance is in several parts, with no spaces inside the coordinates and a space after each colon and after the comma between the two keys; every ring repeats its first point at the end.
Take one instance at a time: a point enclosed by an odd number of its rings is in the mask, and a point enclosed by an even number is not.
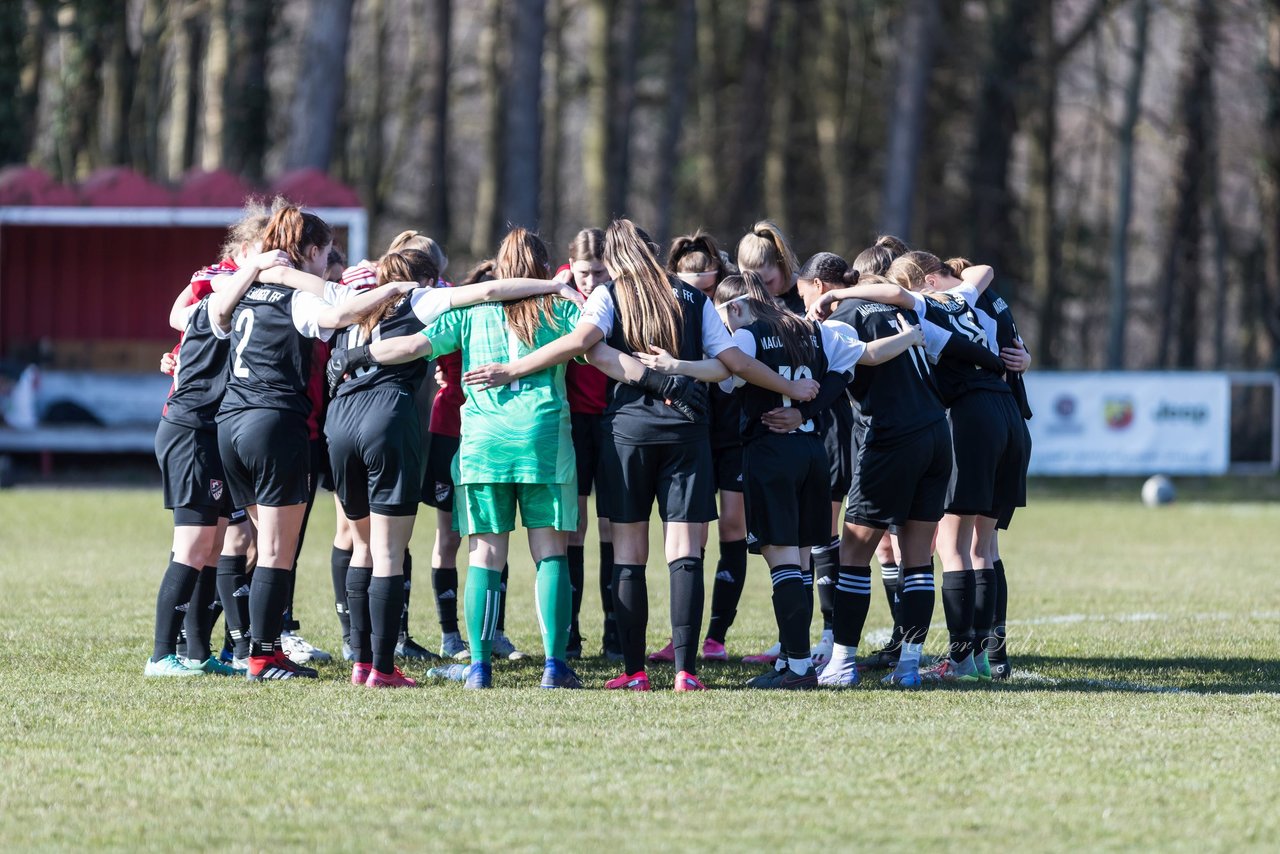
{"type": "Polygon", "coordinates": [[[230,516],[232,497],[218,453],[218,431],[169,421],[156,428],[156,462],[164,483],[164,506],[179,525],[211,526],[230,516]]]}

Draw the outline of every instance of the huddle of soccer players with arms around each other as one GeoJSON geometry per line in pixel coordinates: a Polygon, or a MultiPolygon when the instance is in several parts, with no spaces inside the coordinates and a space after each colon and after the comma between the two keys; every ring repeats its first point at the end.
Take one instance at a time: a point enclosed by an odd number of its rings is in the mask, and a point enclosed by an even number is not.
{"type": "Polygon", "coordinates": [[[895,238],[852,265],[832,252],[800,265],[767,222],[736,259],[701,232],[663,252],[626,219],[568,248],[557,270],[516,228],[451,286],[443,251],[415,232],[343,270],[332,229],[298,207],[278,202],[233,229],[172,316],[183,338],[156,453],[174,539],[148,676],[316,676],[282,634],[321,472],[339,507],[333,584],[353,684],[413,686],[396,658],[429,654],[406,622],[425,502],[438,511],[442,652],[470,657],[431,672],[488,688],[494,654],[521,656],[502,631],[518,508],[541,685],[581,688],[568,662],[582,654],[593,487],[603,653],[622,663],[607,689],[649,690],[657,661],[673,665],[675,690],[704,690],[698,661],[728,658],[749,552],[769,567],[778,627],[773,648],[745,659],[767,665],[753,688],[851,686],[867,668],[890,670],[896,686],[1009,675],[996,531],[1025,503],[1029,357],[989,268],[895,238]],[[424,453],[428,360],[440,391],[424,453]],[[654,503],[671,640],[646,656],[654,503]],[[950,647],[922,670],[934,552],[950,647]],[[858,659],[873,554],[895,634],[858,659]],[[824,627],[812,647],[814,586],[824,627]],[[228,661],[210,649],[219,607],[228,661]]]}

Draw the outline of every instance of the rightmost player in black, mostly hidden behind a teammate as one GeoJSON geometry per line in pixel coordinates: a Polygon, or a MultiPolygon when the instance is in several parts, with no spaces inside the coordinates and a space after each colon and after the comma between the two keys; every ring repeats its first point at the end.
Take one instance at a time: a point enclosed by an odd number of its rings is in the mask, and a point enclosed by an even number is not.
{"type": "MultiPolygon", "coordinates": [[[[947,266],[959,274],[968,266],[963,259],[947,261],[947,266]]],[[[1023,344],[1021,335],[1018,334],[1018,325],[1014,323],[1014,314],[1009,303],[993,289],[987,288],[974,306],[987,337],[996,342],[1000,348],[1000,357],[1005,362],[1005,380],[1018,403],[1019,414],[1023,417],[1023,433],[1027,455],[1018,483],[1018,489],[1012,498],[1027,493],[1027,467],[1030,461],[1032,437],[1027,431],[1027,420],[1032,417],[1032,410],[1027,401],[1027,385],[1023,374],[1030,367],[1030,353],[1023,344]]],[[[979,515],[973,531],[973,567],[974,567],[974,609],[973,630],[974,644],[978,650],[986,650],[991,677],[993,680],[1009,679],[1009,650],[1005,640],[1005,620],[1009,609],[1009,585],[1005,579],[1005,561],[1000,556],[1000,530],[1006,530],[1014,516],[1014,506],[1010,497],[996,497],[997,507],[993,516],[979,515]]]]}

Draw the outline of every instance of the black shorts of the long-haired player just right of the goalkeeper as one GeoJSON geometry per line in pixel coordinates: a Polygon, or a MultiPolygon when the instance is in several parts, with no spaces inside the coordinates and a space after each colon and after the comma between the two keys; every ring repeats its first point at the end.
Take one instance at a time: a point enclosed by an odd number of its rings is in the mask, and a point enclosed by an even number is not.
{"type": "Polygon", "coordinates": [[[705,437],[680,444],[607,439],[596,472],[596,512],[611,522],[646,522],[657,499],[664,522],[709,522],[716,519],[714,478],[705,437]]]}

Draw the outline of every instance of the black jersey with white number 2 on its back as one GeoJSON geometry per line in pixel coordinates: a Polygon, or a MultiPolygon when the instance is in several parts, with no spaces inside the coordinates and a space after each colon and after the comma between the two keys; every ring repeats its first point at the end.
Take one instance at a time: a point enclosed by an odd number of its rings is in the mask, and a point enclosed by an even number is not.
{"type": "Polygon", "coordinates": [[[255,284],[232,315],[230,371],[218,417],[244,410],[311,414],[310,338],[293,325],[292,288],[255,284]]]}

